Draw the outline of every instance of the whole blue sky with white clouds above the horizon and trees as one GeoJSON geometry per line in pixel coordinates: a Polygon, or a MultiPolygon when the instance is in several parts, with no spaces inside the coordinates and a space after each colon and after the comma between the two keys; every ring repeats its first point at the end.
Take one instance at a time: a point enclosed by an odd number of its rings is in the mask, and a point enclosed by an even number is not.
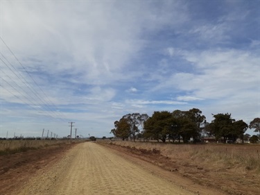
{"type": "Polygon", "coordinates": [[[259,2],[1,1],[0,137],[109,137],[128,113],[191,108],[249,124],[259,2]]]}

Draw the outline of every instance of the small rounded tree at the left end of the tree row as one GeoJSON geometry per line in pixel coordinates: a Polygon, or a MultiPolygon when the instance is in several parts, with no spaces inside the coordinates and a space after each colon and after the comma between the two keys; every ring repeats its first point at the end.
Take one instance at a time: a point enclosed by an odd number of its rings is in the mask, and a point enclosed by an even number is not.
{"type": "Polygon", "coordinates": [[[115,137],[120,137],[125,140],[125,138],[128,138],[131,134],[128,119],[121,118],[119,121],[114,121],[114,127],[110,133],[113,133],[115,137]]]}

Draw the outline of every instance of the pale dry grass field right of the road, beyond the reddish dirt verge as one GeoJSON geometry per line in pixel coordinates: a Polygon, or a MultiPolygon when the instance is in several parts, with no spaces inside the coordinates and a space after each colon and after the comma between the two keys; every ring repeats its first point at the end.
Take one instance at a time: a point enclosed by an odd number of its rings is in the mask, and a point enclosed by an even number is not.
{"type": "Polygon", "coordinates": [[[180,164],[200,164],[216,170],[239,169],[260,173],[260,145],[232,144],[162,144],[155,142],[122,142],[113,144],[137,149],[159,150],[180,164]]]}

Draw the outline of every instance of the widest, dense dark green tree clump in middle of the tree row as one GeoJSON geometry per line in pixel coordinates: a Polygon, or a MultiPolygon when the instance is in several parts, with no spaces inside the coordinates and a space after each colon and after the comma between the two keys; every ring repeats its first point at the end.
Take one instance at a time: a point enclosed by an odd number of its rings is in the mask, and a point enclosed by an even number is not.
{"type": "Polygon", "coordinates": [[[196,142],[200,139],[202,124],[206,122],[206,117],[201,113],[197,108],[189,111],[154,112],[144,123],[144,137],[152,137],[162,142],[166,142],[167,138],[180,142],[182,137],[184,143],[193,138],[196,142]]]}

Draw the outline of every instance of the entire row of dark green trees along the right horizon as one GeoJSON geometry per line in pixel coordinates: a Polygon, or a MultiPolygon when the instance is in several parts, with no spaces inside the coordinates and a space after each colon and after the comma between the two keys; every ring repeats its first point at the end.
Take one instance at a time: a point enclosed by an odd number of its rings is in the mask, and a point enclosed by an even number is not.
{"type": "MultiPolygon", "coordinates": [[[[213,114],[212,114],[213,115],[213,114]]],[[[232,119],[231,114],[213,115],[214,120],[206,121],[205,115],[198,108],[182,111],[155,111],[149,117],[147,114],[132,113],[124,115],[119,121],[114,121],[114,128],[110,131],[115,137],[123,140],[136,138],[155,139],[166,142],[201,142],[202,137],[214,136],[216,141],[222,139],[235,142],[244,140],[244,133],[248,128],[254,128],[260,133],[260,118],[255,118],[246,124],[243,120],[232,119]]],[[[255,138],[255,137],[254,137],[255,138]]],[[[257,138],[258,140],[258,138],[257,138]]]]}

